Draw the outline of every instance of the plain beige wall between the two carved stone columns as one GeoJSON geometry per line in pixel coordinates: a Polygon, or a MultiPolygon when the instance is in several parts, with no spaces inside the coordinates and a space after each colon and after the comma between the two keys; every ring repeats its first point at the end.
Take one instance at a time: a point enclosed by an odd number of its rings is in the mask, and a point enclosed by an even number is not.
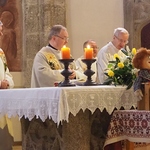
{"type": "Polygon", "coordinates": [[[66,0],[69,47],[74,58],[83,54],[82,45],[94,39],[101,48],[123,27],[122,0],[66,0]]]}

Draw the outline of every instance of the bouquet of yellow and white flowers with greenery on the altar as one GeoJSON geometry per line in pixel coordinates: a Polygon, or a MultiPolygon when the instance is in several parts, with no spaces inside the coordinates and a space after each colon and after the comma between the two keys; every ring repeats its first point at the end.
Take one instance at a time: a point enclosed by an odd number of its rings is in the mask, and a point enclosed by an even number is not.
{"type": "Polygon", "coordinates": [[[132,65],[132,58],[136,54],[136,49],[130,50],[128,47],[121,50],[125,57],[121,58],[118,54],[114,54],[114,61],[109,61],[107,72],[108,77],[103,84],[105,85],[126,85],[130,89],[136,78],[136,69],[132,65]]]}

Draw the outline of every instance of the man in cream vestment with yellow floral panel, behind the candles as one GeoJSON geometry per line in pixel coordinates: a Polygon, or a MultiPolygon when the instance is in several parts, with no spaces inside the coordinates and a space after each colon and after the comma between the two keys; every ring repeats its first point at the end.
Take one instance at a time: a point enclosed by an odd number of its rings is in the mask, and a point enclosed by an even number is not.
{"type": "MultiPolygon", "coordinates": [[[[61,72],[64,67],[59,62],[62,59],[61,48],[68,43],[67,29],[62,25],[54,25],[49,33],[49,43],[43,47],[35,56],[31,87],[52,87],[56,82],[64,80],[61,72]]],[[[78,71],[75,65],[71,68],[72,74],[69,79],[83,78],[83,74],[78,71]]]]}

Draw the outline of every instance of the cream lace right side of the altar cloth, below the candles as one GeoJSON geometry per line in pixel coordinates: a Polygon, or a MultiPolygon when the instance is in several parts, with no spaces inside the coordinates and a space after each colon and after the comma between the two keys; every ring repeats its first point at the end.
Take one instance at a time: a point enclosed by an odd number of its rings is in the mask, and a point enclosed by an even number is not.
{"type": "Polygon", "coordinates": [[[122,86],[81,86],[79,88],[63,88],[60,97],[58,120],[67,120],[69,113],[74,116],[80,109],[83,111],[89,109],[92,113],[96,108],[103,111],[104,108],[111,114],[114,108],[130,109],[136,108],[137,99],[134,96],[133,89],[126,90],[122,86]]]}

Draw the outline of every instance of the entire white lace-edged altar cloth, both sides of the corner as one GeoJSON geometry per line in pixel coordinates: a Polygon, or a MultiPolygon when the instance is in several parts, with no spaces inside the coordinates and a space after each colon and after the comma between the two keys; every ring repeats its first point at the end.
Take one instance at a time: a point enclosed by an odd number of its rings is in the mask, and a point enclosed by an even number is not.
{"type": "Polygon", "coordinates": [[[114,108],[130,109],[137,106],[133,89],[122,86],[75,86],[0,90],[0,116],[35,116],[45,121],[48,117],[59,123],[67,120],[69,113],[76,115],[80,109],[92,113],[104,108],[109,114],[114,108]]]}

